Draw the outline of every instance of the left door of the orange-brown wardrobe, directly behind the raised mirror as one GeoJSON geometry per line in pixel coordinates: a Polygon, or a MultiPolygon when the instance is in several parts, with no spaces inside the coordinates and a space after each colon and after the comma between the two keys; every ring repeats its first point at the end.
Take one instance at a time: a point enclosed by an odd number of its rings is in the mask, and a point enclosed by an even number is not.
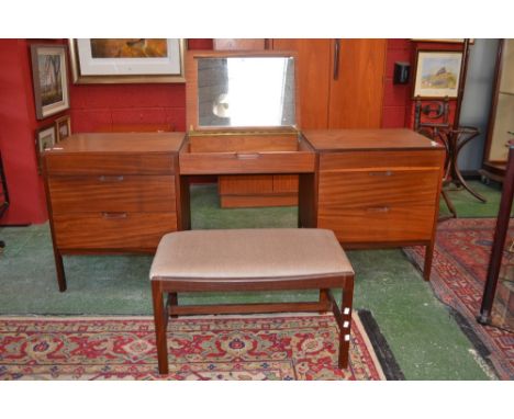
{"type": "Polygon", "coordinates": [[[272,49],[298,54],[300,127],[326,128],[331,83],[331,39],[272,39],[272,49]]]}

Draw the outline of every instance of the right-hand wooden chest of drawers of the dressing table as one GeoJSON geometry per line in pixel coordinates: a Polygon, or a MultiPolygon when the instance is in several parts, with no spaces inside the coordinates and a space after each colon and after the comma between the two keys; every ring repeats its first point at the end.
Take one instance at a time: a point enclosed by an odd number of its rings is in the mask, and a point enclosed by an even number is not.
{"type": "Polygon", "coordinates": [[[428,279],[444,148],[407,129],[304,136],[320,154],[315,226],[334,230],[344,248],[425,245],[428,279]]]}

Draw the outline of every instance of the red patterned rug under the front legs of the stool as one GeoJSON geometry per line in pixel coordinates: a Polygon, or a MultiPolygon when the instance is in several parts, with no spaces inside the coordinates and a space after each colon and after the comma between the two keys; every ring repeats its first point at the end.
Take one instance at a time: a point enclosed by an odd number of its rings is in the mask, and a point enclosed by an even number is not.
{"type": "Polygon", "coordinates": [[[353,318],[343,371],[331,314],[172,319],[159,376],[150,317],[0,317],[0,380],[386,380],[353,318]]]}

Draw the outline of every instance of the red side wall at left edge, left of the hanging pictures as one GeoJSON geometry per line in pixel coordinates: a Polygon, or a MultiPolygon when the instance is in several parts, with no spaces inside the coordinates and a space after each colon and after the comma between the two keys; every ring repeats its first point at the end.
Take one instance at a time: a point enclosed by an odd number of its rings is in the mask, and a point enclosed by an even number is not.
{"type": "MultiPolygon", "coordinates": [[[[35,131],[53,123],[37,121],[32,90],[30,45],[42,39],[0,39],[0,150],[10,206],[1,224],[43,223],[47,219],[43,180],[37,173],[35,131]]],[[[45,44],[62,41],[45,39],[45,44]]]]}

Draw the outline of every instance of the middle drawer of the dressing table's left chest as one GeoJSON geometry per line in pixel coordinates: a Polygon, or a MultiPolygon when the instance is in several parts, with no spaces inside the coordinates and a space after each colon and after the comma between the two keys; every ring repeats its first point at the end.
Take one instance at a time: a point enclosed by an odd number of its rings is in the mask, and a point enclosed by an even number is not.
{"type": "Polygon", "coordinates": [[[48,190],[54,214],[176,211],[172,175],[51,177],[48,190]]]}

